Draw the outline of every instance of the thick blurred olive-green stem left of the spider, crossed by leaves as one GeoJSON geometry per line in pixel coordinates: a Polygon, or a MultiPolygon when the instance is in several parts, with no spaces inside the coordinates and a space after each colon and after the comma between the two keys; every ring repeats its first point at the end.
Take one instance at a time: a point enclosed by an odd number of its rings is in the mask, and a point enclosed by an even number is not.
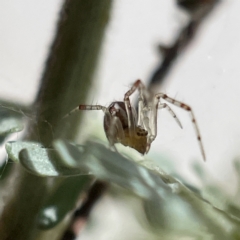
{"type": "MultiPolygon", "coordinates": [[[[37,124],[30,123],[28,140],[40,139],[49,146],[53,137],[75,138],[80,118],[70,119],[67,125],[62,117],[86,99],[110,7],[111,0],[66,0],[63,4],[34,104],[37,124]]],[[[19,179],[0,218],[0,239],[37,239],[36,218],[48,194],[47,179],[28,174],[20,166],[13,175],[19,179]]]]}

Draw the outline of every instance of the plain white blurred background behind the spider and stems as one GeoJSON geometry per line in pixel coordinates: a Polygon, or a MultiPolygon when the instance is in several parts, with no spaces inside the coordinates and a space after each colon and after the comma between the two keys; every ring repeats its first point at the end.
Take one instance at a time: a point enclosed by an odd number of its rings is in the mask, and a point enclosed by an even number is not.
{"type": "MultiPolygon", "coordinates": [[[[59,0],[1,1],[2,99],[33,102],[61,4],[59,0]]],[[[192,171],[192,163],[198,162],[232,196],[236,192],[232,161],[239,157],[240,145],[239,8],[238,0],[218,3],[175,61],[164,83],[155,89],[192,107],[207,161],[203,162],[188,113],[174,106],[183,129],[165,110],[160,111],[158,135],[148,154],[153,159],[160,155],[171,159],[177,172],[192,184],[198,184],[192,171]]],[[[136,79],[147,83],[162,58],[159,44],[173,44],[188,19],[173,0],[114,1],[95,83],[85,104],[108,106],[112,101],[121,101],[136,79]]],[[[102,121],[102,112],[86,112],[85,135],[94,135],[97,130],[97,136],[106,141],[102,121]]],[[[168,171],[168,164],[166,161],[160,167],[168,171]]],[[[104,204],[109,208],[110,221],[111,216],[129,214],[129,209],[124,210],[124,204],[116,199],[104,197],[102,202],[103,208],[96,207],[96,218],[104,214],[104,204]]],[[[121,231],[117,227],[115,230],[121,231]]],[[[123,239],[122,235],[114,236],[123,239]]],[[[86,234],[81,239],[92,238],[86,234]]]]}

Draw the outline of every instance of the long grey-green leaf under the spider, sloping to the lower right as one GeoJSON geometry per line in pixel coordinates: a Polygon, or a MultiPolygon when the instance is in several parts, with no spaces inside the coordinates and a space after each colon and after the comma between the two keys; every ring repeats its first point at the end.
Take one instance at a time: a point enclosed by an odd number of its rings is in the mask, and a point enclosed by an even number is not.
{"type": "Polygon", "coordinates": [[[68,161],[75,163],[76,167],[144,198],[148,204],[149,222],[158,222],[162,229],[168,227],[175,233],[185,231],[189,236],[198,232],[202,237],[214,235],[224,240],[232,239],[232,235],[240,232],[239,219],[204,201],[151,161],[136,162],[92,142],[86,144],[84,151],[61,140],[56,141],[54,146],[61,158],[69,158],[68,161]],[[187,222],[185,219],[193,229],[189,230],[183,224],[187,222]]]}

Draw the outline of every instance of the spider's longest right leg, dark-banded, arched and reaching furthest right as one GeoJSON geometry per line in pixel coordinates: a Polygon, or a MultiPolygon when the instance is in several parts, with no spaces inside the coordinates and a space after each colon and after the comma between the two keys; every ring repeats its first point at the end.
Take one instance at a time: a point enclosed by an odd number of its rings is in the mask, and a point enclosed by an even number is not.
{"type": "MultiPolygon", "coordinates": [[[[177,100],[175,100],[173,98],[168,97],[164,93],[158,93],[158,94],[155,95],[155,100],[154,100],[155,103],[157,102],[156,104],[158,104],[158,102],[160,101],[161,98],[164,99],[165,101],[169,102],[169,103],[172,103],[173,105],[175,105],[177,107],[180,107],[180,108],[188,111],[190,113],[190,117],[191,117],[194,129],[195,129],[196,135],[197,135],[197,140],[198,140],[198,143],[199,143],[199,147],[200,147],[203,159],[206,160],[205,151],[204,151],[204,148],[203,148],[203,143],[202,143],[202,140],[201,140],[199,127],[197,125],[197,121],[196,121],[196,118],[195,118],[195,116],[193,114],[193,111],[192,111],[191,107],[189,107],[185,103],[179,102],[179,101],[177,101],[177,100]]],[[[157,106],[157,105],[155,105],[155,106],[157,106]]],[[[157,131],[156,112],[157,112],[157,110],[155,109],[155,111],[154,111],[154,113],[155,113],[155,116],[154,116],[154,124],[155,124],[154,130],[155,130],[155,134],[156,134],[156,131],[157,131]]]]}

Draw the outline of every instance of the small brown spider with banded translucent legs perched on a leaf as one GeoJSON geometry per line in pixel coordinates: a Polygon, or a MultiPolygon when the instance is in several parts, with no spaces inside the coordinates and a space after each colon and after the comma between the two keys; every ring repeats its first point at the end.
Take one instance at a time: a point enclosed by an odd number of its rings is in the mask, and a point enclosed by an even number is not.
{"type": "Polygon", "coordinates": [[[134,148],[141,154],[146,154],[150,149],[151,143],[157,136],[158,109],[166,108],[182,128],[175,113],[166,103],[161,103],[161,99],[190,113],[200,150],[205,160],[199,128],[192,109],[185,103],[170,98],[164,93],[157,93],[151,96],[141,80],[137,80],[131,89],[125,93],[123,102],[112,102],[109,107],[101,105],[79,105],[66,116],[79,110],[102,110],[104,112],[104,131],[110,146],[114,146],[115,143],[121,143],[124,146],[134,148]],[[139,91],[138,113],[131,105],[129,99],[136,90],[139,91]]]}

